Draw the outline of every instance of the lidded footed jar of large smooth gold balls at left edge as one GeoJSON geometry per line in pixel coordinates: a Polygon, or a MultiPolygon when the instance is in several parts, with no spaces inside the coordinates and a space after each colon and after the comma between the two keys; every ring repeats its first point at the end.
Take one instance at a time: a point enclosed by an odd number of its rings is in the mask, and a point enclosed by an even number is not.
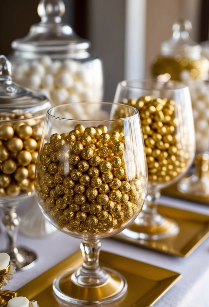
{"type": "Polygon", "coordinates": [[[18,203],[34,194],[35,167],[46,110],[45,96],[13,83],[11,64],[0,56],[0,206],[8,239],[6,252],[18,269],[29,268],[36,254],[17,247],[18,203]]]}

